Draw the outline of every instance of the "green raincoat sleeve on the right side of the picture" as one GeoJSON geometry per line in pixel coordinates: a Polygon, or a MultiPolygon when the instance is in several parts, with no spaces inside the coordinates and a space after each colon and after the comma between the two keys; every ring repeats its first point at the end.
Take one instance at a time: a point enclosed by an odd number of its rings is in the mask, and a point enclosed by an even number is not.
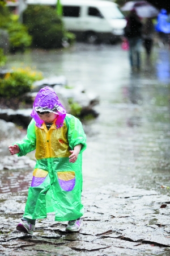
{"type": "Polygon", "coordinates": [[[68,129],[68,141],[71,150],[78,144],[82,144],[82,148],[80,153],[82,153],[87,145],[86,145],[86,134],[84,133],[82,123],[79,121],[78,118],[74,117],[73,115],[66,115],[66,125],[68,129]]]}

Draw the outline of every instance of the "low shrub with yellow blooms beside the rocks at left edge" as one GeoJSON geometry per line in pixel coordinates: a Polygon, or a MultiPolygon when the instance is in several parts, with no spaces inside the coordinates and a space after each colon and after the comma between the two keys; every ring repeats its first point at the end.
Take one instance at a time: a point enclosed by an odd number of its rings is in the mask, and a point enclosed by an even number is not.
{"type": "Polygon", "coordinates": [[[42,74],[31,70],[31,68],[13,69],[0,79],[0,97],[20,98],[24,93],[31,91],[34,81],[41,80],[42,74]]]}

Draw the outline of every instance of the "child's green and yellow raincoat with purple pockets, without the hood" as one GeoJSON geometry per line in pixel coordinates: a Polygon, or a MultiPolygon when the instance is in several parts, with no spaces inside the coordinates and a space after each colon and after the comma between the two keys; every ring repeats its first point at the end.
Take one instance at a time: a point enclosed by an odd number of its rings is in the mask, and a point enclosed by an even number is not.
{"type": "Polygon", "coordinates": [[[55,212],[56,221],[76,220],[83,215],[82,152],[86,149],[86,135],[82,123],[73,115],[66,114],[63,126],[56,123],[47,130],[45,123],[36,126],[32,119],[22,141],[18,156],[36,149],[36,166],[23,217],[31,220],[46,218],[55,212]],[[82,148],[75,163],[69,162],[70,152],[77,144],[82,148]]]}

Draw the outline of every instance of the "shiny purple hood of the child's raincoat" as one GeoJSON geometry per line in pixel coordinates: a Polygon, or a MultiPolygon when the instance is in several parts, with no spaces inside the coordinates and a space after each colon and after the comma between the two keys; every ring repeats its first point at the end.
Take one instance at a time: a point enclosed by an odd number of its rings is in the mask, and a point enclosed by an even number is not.
{"type": "Polygon", "coordinates": [[[54,92],[54,90],[48,86],[42,88],[35,98],[35,101],[33,102],[33,109],[31,112],[31,117],[35,119],[36,126],[41,127],[42,121],[39,117],[39,115],[36,113],[36,111],[39,112],[53,112],[55,114],[58,114],[57,120],[56,120],[56,128],[63,126],[63,121],[66,116],[66,110],[63,108],[61,102],[59,101],[57,94],[54,92]]]}

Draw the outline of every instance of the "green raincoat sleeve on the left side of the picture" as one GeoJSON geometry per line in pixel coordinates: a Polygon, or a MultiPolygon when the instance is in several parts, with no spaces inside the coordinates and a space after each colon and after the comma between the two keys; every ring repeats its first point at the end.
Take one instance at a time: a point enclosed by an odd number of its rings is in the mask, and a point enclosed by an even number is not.
{"type": "Polygon", "coordinates": [[[32,121],[28,125],[27,135],[22,141],[16,141],[14,144],[18,144],[20,152],[18,156],[26,155],[28,152],[35,150],[36,148],[36,134],[35,134],[35,121],[32,121]]]}

